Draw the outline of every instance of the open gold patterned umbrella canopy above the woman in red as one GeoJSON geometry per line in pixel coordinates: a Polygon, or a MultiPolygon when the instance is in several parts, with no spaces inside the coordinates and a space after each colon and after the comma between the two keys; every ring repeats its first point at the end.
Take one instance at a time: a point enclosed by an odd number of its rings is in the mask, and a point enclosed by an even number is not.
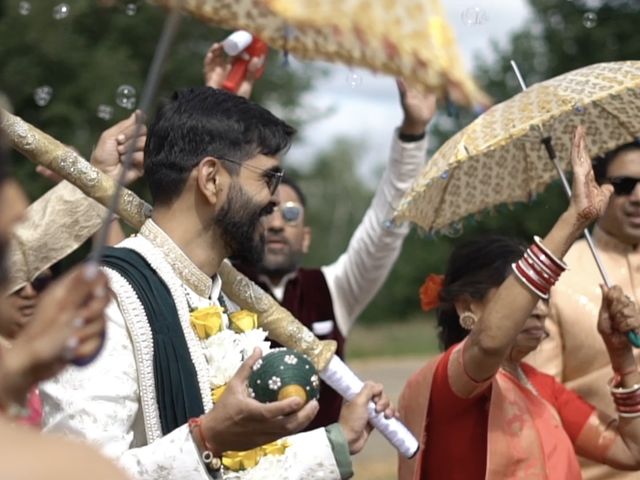
{"type": "Polygon", "coordinates": [[[403,198],[395,219],[428,231],[502,203],[529,201],[571,166],[573,132],[603,154],[640,136],[640,62],[600,63],[531,86],[451,137],[403,198]]]}

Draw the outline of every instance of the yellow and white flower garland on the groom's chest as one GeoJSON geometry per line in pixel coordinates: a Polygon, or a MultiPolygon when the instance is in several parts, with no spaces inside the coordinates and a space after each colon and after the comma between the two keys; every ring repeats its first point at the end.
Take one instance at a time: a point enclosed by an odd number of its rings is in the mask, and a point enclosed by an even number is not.
{"type": "MultiPolygon", "coordinates": [[[[258,327],[258,315],[238,310],[227,315],[217,305],[192,309],[191,326],[200,338],[209,367],[209,385],[213,403],[217,403],[227,383],[256,347],[263,354],[270,351],[267,332],[258,327]]],[[[286,439],[272,442],[246,452],[225,452],[223,465],[232,471],[255,467],[264,457],[282,456],[289,446],[286,439]]],[[[273,463],[273,462],[267,462],[273,463]]],[[[275,462],[278,465],[279,462],[275,462]]]]}

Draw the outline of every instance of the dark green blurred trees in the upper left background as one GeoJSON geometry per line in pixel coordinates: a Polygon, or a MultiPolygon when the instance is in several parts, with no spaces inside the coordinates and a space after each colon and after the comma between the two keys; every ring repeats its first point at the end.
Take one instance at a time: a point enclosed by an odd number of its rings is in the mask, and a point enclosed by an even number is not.
{"type": "MultiPolygon", "coordinates": [[[[0,90],[19,116],[88,157],[100,132],[131,113],[116,104],[118,87],[131,85],[140,99],[165,12],[142,1],[67,0],[68,16],[56,20],[52,12],[61,3],[58,0],[26,2],[31,7],[28,15],[20,13],[20,3],[24,2],[0,0],[0,90]],[[125,13],[129,4],[137,6],[135,15],[125,13]],[[50,86],[53,95],[40,107],[33,95],[43,85],[50,86]],[[113,118],[98,118],[101,104],[114,108],[113,118]]],[[[204,54],[226,33],[183,17],[158,99],[177,88],[202,85],[204,54]]],[[[253,98],[278,105],[280,115],[300,124],[304,120],[296,108],[300,94],[316,73],[313,68],[300,72],[283,68],[280,53],[271,52],[267,74],[253,98]]],[[[28,162],[16,162],[16,169],[30,196],[50,187],[28,162]]]]}

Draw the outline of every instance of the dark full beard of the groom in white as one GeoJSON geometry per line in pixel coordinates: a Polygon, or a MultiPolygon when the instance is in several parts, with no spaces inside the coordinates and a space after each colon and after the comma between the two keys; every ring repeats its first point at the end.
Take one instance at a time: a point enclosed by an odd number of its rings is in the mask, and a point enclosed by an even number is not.
{"type": "Polygon", "coordinates": [[[215,219],[230,256],[246,265],[258,265],[264,256],[262,217],[269,215],[275,204],[257,204],[236,182],[231,183],[225,205],[215,219]]]}

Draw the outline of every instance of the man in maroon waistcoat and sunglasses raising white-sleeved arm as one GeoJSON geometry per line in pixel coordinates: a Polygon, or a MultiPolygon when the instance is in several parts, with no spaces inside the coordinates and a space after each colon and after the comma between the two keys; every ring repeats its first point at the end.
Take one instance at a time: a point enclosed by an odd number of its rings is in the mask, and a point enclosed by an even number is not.
{"type": "MultiPolygon", "coordinates": [[[[402,81],[398,90],[403,121],[393,135],[387,170],[347,250],[330,265],[300,268],[311,228],[305,223],[304,193],[285,177],[278,205],[266,220],[264,258],[257,268],[240,267],[316,336],[335,340],[341,357],[351,327],[398,258],[408,226],[390,225],[389,219],[426,160],[426,127],[435,113],[435,97],[402,81]]],[[[341,405],[340,395],[322,383],[320,411],[307,428],[337,421],[341,405]]]]}

